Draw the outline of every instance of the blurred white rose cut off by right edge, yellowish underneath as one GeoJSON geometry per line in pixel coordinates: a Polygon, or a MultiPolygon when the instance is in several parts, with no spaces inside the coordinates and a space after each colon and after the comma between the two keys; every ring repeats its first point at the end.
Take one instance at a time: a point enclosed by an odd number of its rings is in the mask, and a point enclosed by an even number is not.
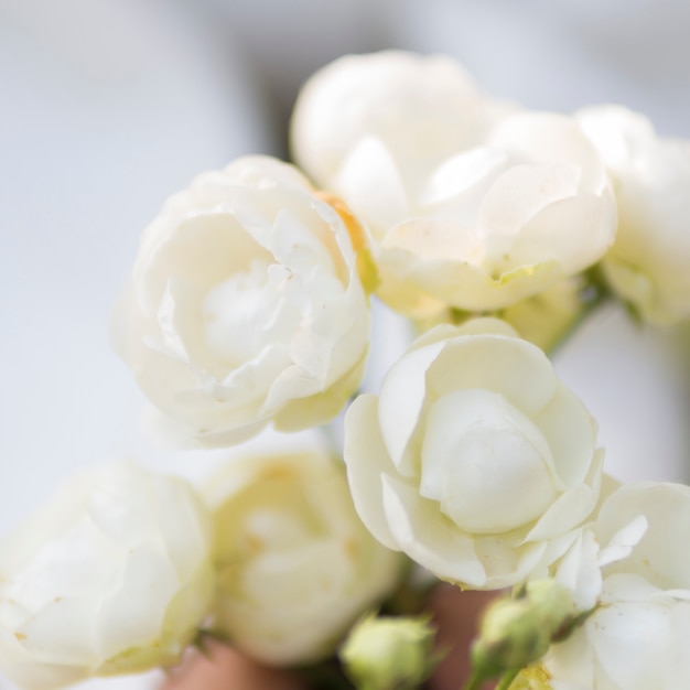
{"type": "Polygon", "coordinates": [[[614,180],[619,229],[604,260],[614,290],[658,324],[690,319],[690,142],[658,138],[617,106],[578,114],[614,180]]]}

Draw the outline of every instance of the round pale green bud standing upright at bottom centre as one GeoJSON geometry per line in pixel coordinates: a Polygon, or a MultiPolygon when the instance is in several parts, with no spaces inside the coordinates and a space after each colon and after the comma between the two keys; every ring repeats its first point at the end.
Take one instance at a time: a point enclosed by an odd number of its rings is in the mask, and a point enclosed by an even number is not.
{"type": "Polygon", "coordinates": [[[438,662],[435,629],[422,617],[367,616],[349,633],[339,657],[359,690],[412,690],[438,662]]]}

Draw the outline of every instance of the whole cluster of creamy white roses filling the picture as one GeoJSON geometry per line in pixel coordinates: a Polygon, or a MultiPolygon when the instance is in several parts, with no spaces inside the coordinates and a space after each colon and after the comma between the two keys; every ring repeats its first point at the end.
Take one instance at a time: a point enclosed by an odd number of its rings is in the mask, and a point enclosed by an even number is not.
{"type": "Polygon", "coordinates": [[[239,159],[145,230],[114,330],[150,421],[206,448],[330,422],[364,374],[371,292],[417,339],[349,407],[345,463],[235,457],[200,492],[131,461],[68,481],[0,549],[0,669],[51,690],[174,664],[203,629],[316,662],[405,553],[463,589],[552,579],[590,612],[542,688],[684,688],[690,488],[604,477],[537,344],[583,288],[690,319],[690,144],[618,107],[526,111],[398,52],[316,74],[292,141],[313,183],[239,159]]]}

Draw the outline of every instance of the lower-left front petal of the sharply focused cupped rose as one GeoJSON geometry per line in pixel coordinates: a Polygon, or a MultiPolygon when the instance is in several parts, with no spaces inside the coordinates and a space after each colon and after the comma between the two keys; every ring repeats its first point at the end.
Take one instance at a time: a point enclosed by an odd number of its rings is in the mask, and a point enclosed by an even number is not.
{"type": "Polygon", "coordinates": [[[384,509],[398,548],[438,578],[472,587],[486,584],[486,572],[477,559],[471,537],[440,511],[438,504],[422,498],[416,488],[382,475],[384,509]]]}

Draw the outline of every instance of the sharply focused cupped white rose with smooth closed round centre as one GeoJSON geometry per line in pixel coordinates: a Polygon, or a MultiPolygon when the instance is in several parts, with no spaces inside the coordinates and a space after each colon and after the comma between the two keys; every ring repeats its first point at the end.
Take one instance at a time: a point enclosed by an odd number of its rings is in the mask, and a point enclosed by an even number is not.
{"type": "Polygon", "coordinates": [[[443,580],[493,590],[562,556],[595,506],[596,425],[546,355],[504,322],[438,326],[345,419],[371,533],[443,580]]]}

